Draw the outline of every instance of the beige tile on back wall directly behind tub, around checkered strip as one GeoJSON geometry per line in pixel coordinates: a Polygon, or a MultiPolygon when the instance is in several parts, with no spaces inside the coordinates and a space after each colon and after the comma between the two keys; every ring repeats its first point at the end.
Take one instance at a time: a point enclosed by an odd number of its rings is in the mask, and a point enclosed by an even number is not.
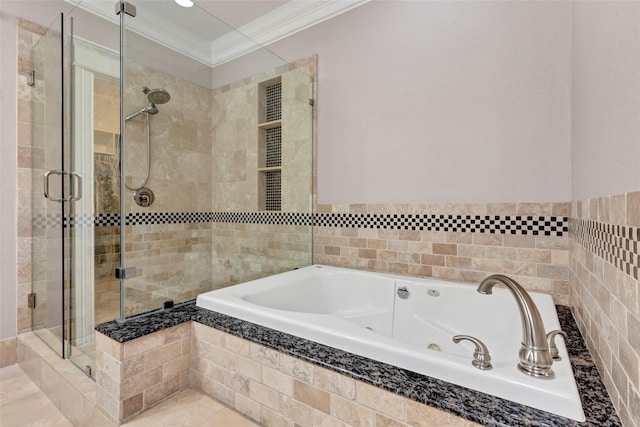
{"type": "MultiPolygon", "coordinates": [[[[322,214],[568,216],[568,203],[447,205],[319,205],[322,214]]],[[[348,220],[346,220],[348,221],[348,220]]],[[[569,237],[509,232],[316,226],[314,263],[478,283],[503,273],[528,290],[568,303],[569,237]]]]}

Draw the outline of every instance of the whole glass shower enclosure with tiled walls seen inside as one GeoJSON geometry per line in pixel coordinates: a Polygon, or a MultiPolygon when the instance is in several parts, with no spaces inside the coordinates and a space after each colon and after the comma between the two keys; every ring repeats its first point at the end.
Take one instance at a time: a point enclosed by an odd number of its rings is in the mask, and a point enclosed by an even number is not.
{"type": "Polygon", "coordinates": [[[173,0],[73,2],[31,47],[32,327],[94,327],[309,265],[315,57],[173,0]]]}

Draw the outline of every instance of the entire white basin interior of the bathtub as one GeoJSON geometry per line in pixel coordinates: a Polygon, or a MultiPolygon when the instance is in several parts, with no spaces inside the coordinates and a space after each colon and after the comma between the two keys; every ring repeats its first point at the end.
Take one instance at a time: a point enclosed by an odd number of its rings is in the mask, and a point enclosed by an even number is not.
{"type": "MultiPolygon", "coordinates": [[[[325,274],[310,277],[283,275],[282,281],[247,292],[241,299],[275,310],[337,316],[383,337],[466,359],[475,347],[468,341],[455,344],[454,335],[480,339],[494,363],[509,363],[518,353],[522,326],[505,320],[519,319],[513,296],[506,289],[496,287],[493,295],[482,295],[471,285],[461,287],[429,279],[417,283],[370,273],[325,270],[325,274]],[[398,296],[399,288],[409,291],[406,299],[398,296]]],[[[541,310],[553,307],[549,295],[531,296],[541,310]]],[[[544,314],[550,323],[554,313],[544,314]]],[[[559,325],[545,327],[552,330],[559,325]]]]}

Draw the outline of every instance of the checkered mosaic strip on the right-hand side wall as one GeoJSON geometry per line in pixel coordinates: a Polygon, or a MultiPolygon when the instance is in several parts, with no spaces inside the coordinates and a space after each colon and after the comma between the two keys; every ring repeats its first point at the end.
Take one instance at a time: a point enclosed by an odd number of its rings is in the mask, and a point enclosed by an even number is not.
{"type": "Polygon", "coordinates": [[[640,228],[571,218],[569,235],[580,246],[640,279],[640,228]]]}

